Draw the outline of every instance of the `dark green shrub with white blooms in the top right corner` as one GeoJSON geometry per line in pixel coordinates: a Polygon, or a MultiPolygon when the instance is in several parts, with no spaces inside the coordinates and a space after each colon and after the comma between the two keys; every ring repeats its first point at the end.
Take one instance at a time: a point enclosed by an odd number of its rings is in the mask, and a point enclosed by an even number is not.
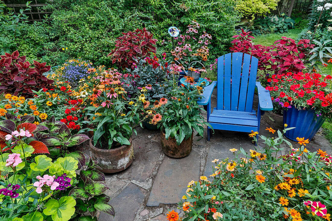
{"type": "Polygon", "coordinates": [[[325,29],[326,27],[328,27],[330,24],[328,20],[332,19],[331,1],[314,0],[310,8],[311,8],[311,13],[309,16],[308,29],[314,32],[319,17],[320,17],[319,19],[320,28],[325,29]],[[324,8],[323,5],[325,5],[324,8]]]}

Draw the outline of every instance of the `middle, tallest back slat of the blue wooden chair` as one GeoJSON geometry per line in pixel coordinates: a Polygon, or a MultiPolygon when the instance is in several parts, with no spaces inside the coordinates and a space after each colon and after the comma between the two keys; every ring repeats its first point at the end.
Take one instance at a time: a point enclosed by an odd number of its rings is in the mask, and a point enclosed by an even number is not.
{"type": "Polygon", "coordinates": [[[237,111],[238,104],[239,104],[239,88],[240,88],[240,77],[241,77],[241,70],[242,70],[242,58],[243,53],[233,53],[232,54],[232,84],[231,84],[231,111],[237,111]]]}

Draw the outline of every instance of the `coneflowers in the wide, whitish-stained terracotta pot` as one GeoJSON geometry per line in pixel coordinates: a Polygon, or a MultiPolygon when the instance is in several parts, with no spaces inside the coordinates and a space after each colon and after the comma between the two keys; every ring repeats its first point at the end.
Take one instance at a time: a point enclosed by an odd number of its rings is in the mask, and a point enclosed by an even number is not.
{"type": "Polygon", "coordinates": [[[132,127],[133,123],[139,123],[136,112],[145,100],[146,91],[136,99],[129,99],[120,78],[121,74],[112,68],[97,72],[84,84],[85,89],[81,88],[88,93],[84,102],[91,106],[85,111],[90,111],[87,115],[95,126],[89,143],[92,159],[99,163],[103,173],[122,171],[132,163],[132,127]]]}

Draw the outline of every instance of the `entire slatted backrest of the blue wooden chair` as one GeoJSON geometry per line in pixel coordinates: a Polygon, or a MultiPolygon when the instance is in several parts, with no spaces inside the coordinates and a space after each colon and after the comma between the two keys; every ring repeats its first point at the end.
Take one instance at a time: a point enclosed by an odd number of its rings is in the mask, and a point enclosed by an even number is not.
{"type": "Polygon", "coordinates": [[[217,63],[217,110],[252,112],[258,59],[235,52],[217,63]]]}

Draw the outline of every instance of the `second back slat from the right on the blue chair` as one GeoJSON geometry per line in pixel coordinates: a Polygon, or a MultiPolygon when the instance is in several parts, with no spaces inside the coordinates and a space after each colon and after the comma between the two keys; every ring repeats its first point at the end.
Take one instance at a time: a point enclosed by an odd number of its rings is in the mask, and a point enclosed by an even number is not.
{"type": "Polygon", "coordinates": [[[247,91],[248,91],[248,78],[249,78],[249,67],[250,67],[251,55],[243,55],[243,67],[241,76],[240,96],[239,96],[239,111],[245,111],[247,91]]]}

